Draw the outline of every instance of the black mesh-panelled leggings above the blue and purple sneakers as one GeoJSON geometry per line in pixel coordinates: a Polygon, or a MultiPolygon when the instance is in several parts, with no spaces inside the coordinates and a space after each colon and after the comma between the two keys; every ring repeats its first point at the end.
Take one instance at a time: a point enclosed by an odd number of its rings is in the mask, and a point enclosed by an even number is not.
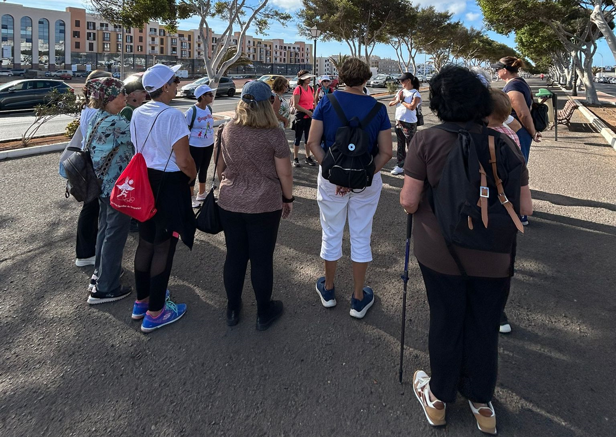
{"type": "Polygon", "coordinates": [[[176,246],[177,234],[169,235],[168,239],[160,241],[160,238],[156,237],[156,224],[152,220],[139,224],[139,245],[135,252],[135,288],[137,300],[150,298],[150,311],[160,311],[164,307],[176,246]]]}

